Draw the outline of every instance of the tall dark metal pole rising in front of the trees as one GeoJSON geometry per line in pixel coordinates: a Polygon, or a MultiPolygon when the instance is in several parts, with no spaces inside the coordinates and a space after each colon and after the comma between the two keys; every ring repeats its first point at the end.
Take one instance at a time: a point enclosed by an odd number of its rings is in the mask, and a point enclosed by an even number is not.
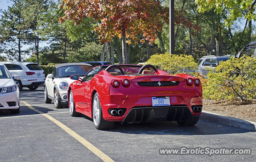
{"type": "Polygon", "coordinates": [[[170,54],[175,54],[175,40],[174,40],[174,0],[169,0],[169,18],[170,18],[170,54]]]}

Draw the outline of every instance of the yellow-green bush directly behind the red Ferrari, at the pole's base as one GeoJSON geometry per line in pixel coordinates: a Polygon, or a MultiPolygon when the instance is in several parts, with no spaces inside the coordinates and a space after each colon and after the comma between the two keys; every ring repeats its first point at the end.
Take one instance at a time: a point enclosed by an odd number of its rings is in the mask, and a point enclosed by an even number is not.
{"type": "Polygon", "coordinates": [[[193,74],[197,69],[197,63],[190,55],[155,54],[148,59],[147,64],[155,65],[169,74],[193,74]]]}

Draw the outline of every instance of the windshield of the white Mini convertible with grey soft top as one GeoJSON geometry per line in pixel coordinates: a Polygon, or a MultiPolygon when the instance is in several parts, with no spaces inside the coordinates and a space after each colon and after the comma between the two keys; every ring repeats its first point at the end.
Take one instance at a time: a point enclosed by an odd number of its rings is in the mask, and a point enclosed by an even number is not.
{"type": "Polygon", "coordinates": [[[86,65],[62,66],[58,68],[58,77],[70,77],[72,75],[84,76],[91,69],[92,66],[86,65]]]}

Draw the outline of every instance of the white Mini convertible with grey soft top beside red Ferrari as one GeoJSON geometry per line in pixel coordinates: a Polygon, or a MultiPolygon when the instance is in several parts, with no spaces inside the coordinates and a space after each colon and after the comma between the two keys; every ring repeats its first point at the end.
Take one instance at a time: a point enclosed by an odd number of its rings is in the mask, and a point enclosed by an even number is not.
{"type": "Polygon", "coordinates": [[[83,77],[92,69],[92,65],[86,63],[65,63],[54,67],[52,74],[46,76],[44,82],[44,101],[51,103],[57,109],[68,106],[68,86],[74,82],[72,75],[83,77]]]}

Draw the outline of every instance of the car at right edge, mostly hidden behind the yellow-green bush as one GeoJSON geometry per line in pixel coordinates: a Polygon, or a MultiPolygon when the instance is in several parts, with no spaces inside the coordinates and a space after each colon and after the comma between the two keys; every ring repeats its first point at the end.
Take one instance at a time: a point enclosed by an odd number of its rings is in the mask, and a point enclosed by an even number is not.
{"type": "Polygon", "coordinates": [[[241,51],[236,55],[236,58],[243,56],[256,57],[256,41],[248,43],[241,51]]]}

